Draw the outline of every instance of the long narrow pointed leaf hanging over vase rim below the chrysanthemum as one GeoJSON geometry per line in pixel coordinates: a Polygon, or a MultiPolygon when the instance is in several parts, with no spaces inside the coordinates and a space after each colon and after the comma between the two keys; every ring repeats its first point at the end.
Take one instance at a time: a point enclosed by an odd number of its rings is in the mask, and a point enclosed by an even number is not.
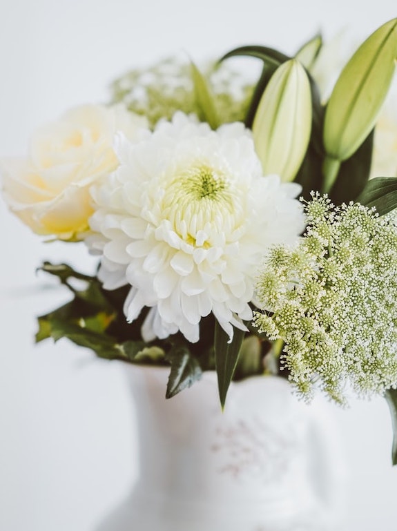
{"type": "Polygon", "coordinates": [[[235,367],[238,363],[238,357],[244,339],[245,332],[234,328],[233,340],[228,343],[229,336],[220,326],[219,322],[215,322],[215,369],[217,372],[217,384],[219,388],[220,403],[222,409],[226,402],[226,394],[233,378],[235,367]]]}

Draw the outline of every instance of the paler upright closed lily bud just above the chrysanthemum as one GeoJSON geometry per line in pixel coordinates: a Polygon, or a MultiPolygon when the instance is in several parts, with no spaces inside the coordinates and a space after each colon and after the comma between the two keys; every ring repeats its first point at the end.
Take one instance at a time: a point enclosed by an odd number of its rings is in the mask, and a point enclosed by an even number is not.
{"type": "Polygon", "coordinates": [[[253,139],[264,175],[293,181],[311,133],[309,78],[297,59],[283,63],[264,90],[253,120],[253,139]]]}

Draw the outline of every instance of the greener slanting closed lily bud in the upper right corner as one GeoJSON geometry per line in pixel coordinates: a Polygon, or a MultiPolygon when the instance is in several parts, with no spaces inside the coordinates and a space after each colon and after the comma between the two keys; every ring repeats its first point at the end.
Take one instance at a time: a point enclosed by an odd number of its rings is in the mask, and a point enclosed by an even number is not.
{"type": "Polygon", "coordinates": [[[374,128],[396,57],[397,19],[393,19],[368,37],[336,81],[325,111],[324,147],[329,159],[347,160],[374,128]]]}

